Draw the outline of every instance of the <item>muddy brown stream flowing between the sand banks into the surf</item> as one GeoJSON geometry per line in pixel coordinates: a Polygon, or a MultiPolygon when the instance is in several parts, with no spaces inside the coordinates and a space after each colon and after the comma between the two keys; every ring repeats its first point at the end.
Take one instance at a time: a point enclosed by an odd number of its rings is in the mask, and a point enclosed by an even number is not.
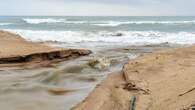
{"type": "Polygon", "coordinates": [[[129,59],[164,48],[121,46],[90,48],[93,54],[51,67],[0,69],[2,110],[69,110],[112,71],[120,71],[129,59]]]}

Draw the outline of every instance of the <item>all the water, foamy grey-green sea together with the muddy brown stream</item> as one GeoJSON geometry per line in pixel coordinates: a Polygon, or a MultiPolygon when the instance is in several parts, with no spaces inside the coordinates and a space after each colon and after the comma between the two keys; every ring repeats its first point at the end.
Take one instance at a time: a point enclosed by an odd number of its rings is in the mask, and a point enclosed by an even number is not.
{"type": "Polygon", "coordinates": [[[93,52],[46,67],[0,68],[4,110],[70,110],[129,60],[195,44],[193,16],[0,16],[0,30],[30,42],[93,52]]]}

